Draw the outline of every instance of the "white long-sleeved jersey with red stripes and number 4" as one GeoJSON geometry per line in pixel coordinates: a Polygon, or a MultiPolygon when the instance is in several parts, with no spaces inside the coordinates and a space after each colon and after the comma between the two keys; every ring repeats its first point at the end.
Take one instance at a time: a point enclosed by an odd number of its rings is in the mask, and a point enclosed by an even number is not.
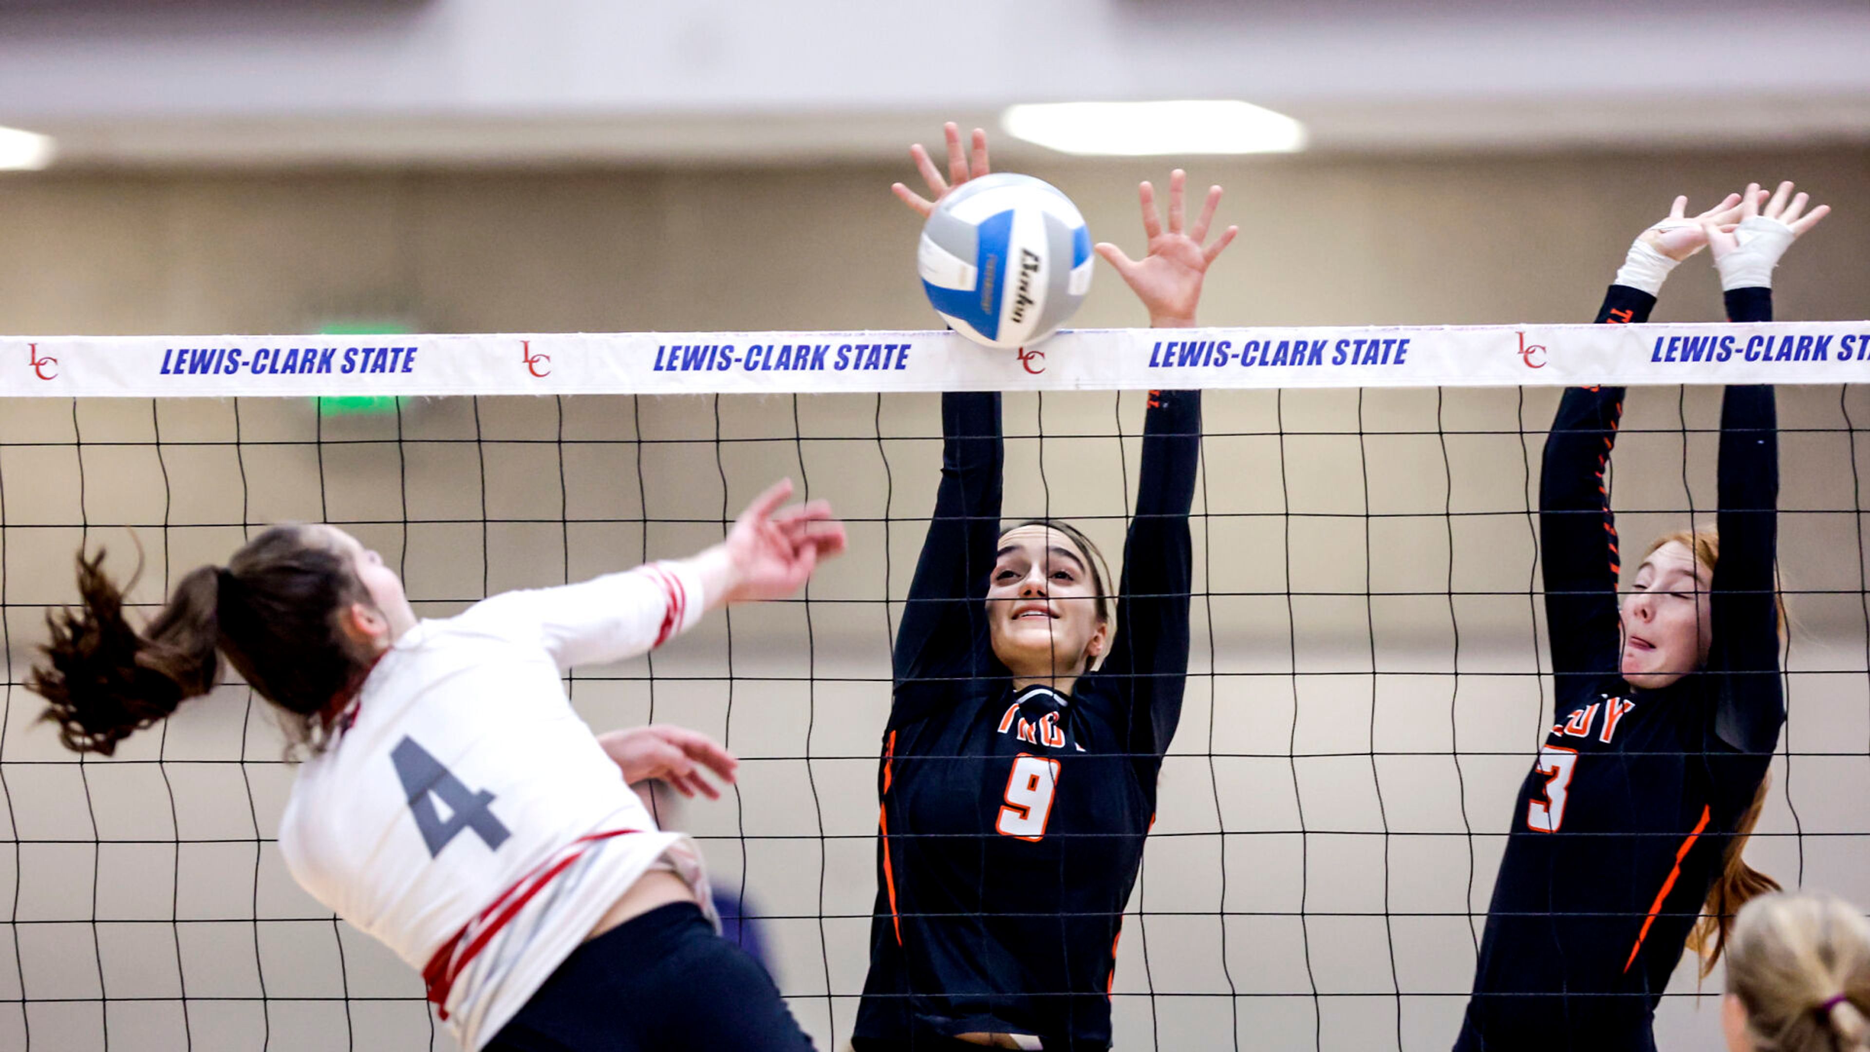
{"type": "Polygon", "coordinates": [[[488,1043],[658,861],[712,915],[699,852],[656,831],[559,679],[654,648],[701,601],[694,571],[653,563],[421,621],[299,767],[286,867],[424,973],[462,1048],[488,1043]]]}

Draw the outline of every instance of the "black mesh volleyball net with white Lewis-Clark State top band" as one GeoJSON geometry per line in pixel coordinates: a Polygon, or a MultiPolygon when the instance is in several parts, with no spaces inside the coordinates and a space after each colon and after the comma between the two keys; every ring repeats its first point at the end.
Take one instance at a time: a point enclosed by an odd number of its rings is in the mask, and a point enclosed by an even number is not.
{"type": "MultiPolygon", "coordinates": [[[[845,558],[798,599],[568,681],[593,728],[669,721],[741,756],[724,801],[664,824],[759,917],[819,1048],[845,1046],[941,389],[1008,391],[1010,520],[1068,519],[1111,554],[1144,391],[1206,389],[1193,653],[1118,947],[1118,1046],[1453,1039],[1552,723],[1537,477],[1565,384],[1633,386],[1610,474],[1631,545],[1713,522],[1719,384],[1782,384],[1790,719],[1748,859],[1870,899],[1870,322],[1113,329],[1004,352],[950,333],[372,339],[0,339],[0,1046],[453,1046],[421,979],[286,874],[294,771],[251,691],[110,758],[39,723],[21,683],[80,547],[120,577],[140,547],[131,601],[151,612],[266,524],[324,520],[449,616],[694,552],[780,475],[834,504],[845,558]]],[[[1689,968],[1664,1043],[1707,1030],[1689,968]]]]}

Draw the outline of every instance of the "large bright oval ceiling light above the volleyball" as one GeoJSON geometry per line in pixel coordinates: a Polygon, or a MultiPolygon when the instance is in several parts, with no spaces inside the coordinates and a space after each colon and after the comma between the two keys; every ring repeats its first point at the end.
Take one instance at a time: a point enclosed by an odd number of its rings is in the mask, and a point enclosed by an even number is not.
{"type": "Polygon", "coordinates": [[[1045,103],[1008,107],[1000,127],[1060,153],[1294,153],[1305,125],[1229,99],[1165,103],[1045,103]]]}

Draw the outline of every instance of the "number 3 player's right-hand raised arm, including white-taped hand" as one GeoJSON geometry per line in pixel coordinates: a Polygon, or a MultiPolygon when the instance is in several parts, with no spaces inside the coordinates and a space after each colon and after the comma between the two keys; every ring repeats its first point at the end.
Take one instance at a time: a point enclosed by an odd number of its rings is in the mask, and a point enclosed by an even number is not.
{"type": "MultiPolygon", "coordinates": [[[[1773,320],[1773,268],[1831,210],[1780,183],[1763,208],[1747,187],[1735,230],[1707,230],[1733,322],[1773,320]],[[1801,215],[1803,213],[1803,215],[1801,215]]],[[[1778,410],[1773,387],[1732,386],[1720,399],[1717,485],[1720,560],[1709,595],[1707,670],[1719,676],[1715,732],[1745,752],[1771,752],[1786,719],[1778,679],[1778,410]]]]}

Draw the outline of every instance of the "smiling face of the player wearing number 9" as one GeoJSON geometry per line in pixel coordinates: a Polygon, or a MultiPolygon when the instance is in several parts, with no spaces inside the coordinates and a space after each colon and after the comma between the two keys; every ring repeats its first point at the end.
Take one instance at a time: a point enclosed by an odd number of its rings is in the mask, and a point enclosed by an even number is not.
{"type": "Polygon", "coordinates": [[[1051,526],[1000,535],[987,578],[993,653],[1015,676],[1075,676],[1103,651],[1090,556],[1051,526]]]}

